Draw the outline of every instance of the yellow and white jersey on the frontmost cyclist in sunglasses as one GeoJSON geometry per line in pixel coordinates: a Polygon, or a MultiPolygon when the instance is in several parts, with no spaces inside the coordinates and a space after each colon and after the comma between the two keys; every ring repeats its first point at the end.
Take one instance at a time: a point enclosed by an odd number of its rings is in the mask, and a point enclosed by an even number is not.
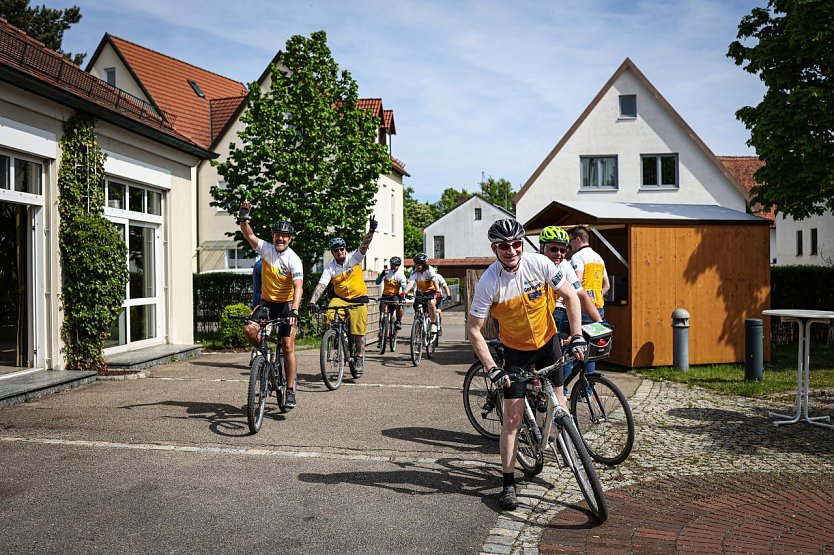
{"type": "Polygon", "coordinates": [[[492,314],[504,345],[534,351],[556,333],[546,289],[558,289],[564,281],[562,271],[542,254],[522,253],[515,272],[496,260],[478,280],[469,313],[477,318],[492,314]]]}

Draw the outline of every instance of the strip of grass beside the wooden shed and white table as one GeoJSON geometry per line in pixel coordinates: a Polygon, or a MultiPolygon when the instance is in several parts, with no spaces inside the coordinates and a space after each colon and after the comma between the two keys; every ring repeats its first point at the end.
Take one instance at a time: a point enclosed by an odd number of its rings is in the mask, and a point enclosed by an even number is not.
{"type": "MultiPolygon", "coordinates": [[[[797,346],[774,345],[772,362],[765,363],[762,381],[748,382],[743,364],[691,366],[687,371],[671,367],[635,371],[655,381],[668,380],[704,387],[725,395],[763,397],[775,393],[795,392],[797,346]]],[[[812,345],[810,365],[811,389],[834,388],[834,345],[812,345]]]]}

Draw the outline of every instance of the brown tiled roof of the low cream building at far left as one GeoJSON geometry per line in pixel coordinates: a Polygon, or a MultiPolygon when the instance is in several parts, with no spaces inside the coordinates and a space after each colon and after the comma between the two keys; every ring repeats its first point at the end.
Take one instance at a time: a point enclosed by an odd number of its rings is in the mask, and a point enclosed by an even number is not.
{"type": "Polygon", "coordinates": [[[177,132],[173,127],[175,117],[172,114],[159,112],[143,100],[87,73],[2,18],[0,73],[4,77],[14,74],[15,78],[10,82],[17,86],[67,106],[93,112],[116,125],[146,135],[156,133],[154,136],[157,139],[161,138],[158,133],[162,133],[170,137],[163,142],[171,146],[189,152],[197,147],[195,154],[204,157],[210,154],[204,151],[202,145],[177,132]],[[136,122],[144,127],[136,128],[136,122]]]}

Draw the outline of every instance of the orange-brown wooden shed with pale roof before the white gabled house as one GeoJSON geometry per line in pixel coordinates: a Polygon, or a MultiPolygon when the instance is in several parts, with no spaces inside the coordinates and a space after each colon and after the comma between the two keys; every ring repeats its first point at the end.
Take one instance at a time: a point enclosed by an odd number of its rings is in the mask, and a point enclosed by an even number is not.
{"type": "Polygon", "coordinates": [[[538,235],[577,224],[589,226],[612,283],[608,362],[671,366],[676,308],[691,315],[690,364],[744,361],[745,320],[770,307],[769,220],[712,205],[554,201],[524,226],[538,235]]]}

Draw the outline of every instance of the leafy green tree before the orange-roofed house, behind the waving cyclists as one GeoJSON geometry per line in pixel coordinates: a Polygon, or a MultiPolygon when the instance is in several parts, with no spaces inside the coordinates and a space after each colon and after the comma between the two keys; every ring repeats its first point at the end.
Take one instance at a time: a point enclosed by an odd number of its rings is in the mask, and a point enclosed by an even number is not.
{"type": "MultiPolygon", "coordinates": [[[[271,237],[278,220],[292,222],[292,248],[306,271],[328,238],[358,243],[391,159],[375,141],[378,120],[357,106],[358,86],[340,71],[324,31],[291,37],[280,63],[269,68],[269,89],[248,87],[241,145],[232,143],[216,164],[226,188],[212,187],[212,205],[237,213],[241,201],[252,202],[259,237],[271,237]]],[[[245,244],[240,231],[234,236],[245,244]]]]}

